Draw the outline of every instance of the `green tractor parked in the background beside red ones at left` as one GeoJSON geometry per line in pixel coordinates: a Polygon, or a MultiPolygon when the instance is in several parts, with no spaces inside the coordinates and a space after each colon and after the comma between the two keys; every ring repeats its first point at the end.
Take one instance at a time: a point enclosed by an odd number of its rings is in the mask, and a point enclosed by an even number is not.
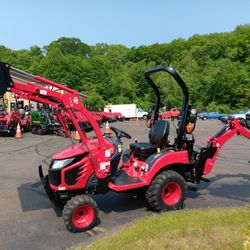
{"type": "Polygon", "coordinates": [[[60,124],[51,111],[37,110],[31,113],[30,119],[32,134],[46,135],[57,133],[60,124]]]}

